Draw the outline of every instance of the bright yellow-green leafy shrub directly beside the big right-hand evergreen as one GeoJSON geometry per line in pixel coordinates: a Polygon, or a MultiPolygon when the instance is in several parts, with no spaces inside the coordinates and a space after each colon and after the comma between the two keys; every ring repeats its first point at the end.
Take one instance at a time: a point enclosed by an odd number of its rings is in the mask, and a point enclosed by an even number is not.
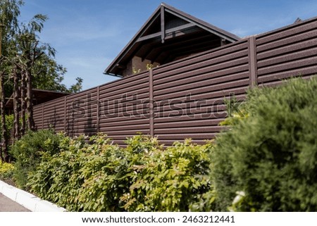
{"type": "Polygon", "coordinates": [[[132,165],[130,191],[121,199],[128,211],[199,210],[194,203],[209,191],[209,150],[211,144],[195,145],[186,140],[166,150],[155,149],[132,165]]]}

